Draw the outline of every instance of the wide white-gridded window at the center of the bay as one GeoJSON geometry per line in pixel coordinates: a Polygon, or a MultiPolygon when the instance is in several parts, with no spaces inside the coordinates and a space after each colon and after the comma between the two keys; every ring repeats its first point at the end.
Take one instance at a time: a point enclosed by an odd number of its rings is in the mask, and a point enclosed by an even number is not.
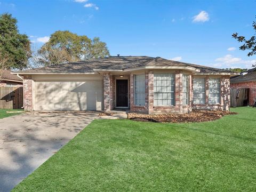
{"type": "Polygon", "coordinates": [[[154,74],[154,106],[174,105],[174,74],[154,74]]]}

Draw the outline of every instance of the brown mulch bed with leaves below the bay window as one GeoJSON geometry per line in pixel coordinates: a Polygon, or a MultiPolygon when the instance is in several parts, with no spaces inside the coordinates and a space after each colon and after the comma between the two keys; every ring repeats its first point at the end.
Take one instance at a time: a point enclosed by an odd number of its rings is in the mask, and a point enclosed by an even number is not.
{"type": "Polygon", "coordinates": [[[140,122],[157,122],[157,123],[189,123],[189,122],[209,122],[220,119],[225,115],[235,115],[231,111],[216,110],[193,110],[188,114],[138,114],[128,113],[128,118],[140,122]]]}

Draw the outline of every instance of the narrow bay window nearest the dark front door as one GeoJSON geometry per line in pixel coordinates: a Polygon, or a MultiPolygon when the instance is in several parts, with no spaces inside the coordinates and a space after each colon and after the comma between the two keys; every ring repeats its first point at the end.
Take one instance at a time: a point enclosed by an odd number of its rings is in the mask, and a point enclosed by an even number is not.
{"type": "Polygon", "coordinates": [[[134,75],[134,104],[145,105],[145,75],[134,75]]]}

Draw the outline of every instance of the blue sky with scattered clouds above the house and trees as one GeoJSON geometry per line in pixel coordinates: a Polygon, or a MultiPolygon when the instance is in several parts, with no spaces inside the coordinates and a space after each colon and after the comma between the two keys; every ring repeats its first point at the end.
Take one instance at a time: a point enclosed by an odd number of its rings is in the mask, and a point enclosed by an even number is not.
{"type": "Polygon", "coordinates": [[[256,1],[3,1],[33,47],[56,30],[107,43],[111,55],[147,55],[218,68],[251,68],[256,57],[231,38],[251,37],[256,1]]]}

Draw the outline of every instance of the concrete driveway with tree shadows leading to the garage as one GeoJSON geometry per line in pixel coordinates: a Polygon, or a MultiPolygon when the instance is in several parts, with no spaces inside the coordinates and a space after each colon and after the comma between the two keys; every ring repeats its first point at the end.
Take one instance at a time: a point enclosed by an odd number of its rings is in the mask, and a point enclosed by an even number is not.
{"type": "Polygon", "coordinates": [[[98,113],[25,113],[0,119],[0,191],[10,191],[98,113]]]}

